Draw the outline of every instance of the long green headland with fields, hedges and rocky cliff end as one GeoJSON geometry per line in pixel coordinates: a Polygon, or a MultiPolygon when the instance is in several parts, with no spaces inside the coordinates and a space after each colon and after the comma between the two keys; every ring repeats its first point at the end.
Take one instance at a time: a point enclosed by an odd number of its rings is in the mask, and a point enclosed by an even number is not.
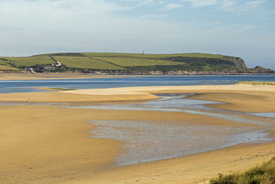
{"type": "MultiPolygon", "coordinates": [[[[128,54],[128,53],[54,53],[32,57],[0,57],[5,68],[35,72],[250,72],[239,57],[219,54],[128,54]]],[[[2,67],[4,68],[4,67],[2,67]]],[[[5,69],[4,68],[4,69],[5,69]]],[[[3,70],[0,68],[0,70],[3,70]]],[[[261,72],[266,72],[261,68],[261,72]]],[[[252,70],[251,70],[252,71],[252,70]]],[[[253,70],[257,72],[258,70],[253,70]]],[[[269,70],[268,70],[269,71],[269,70]]],[[[268,72],[267,71],[267,72],[268,72]]],[[[270,70],[269,72],[272,72],[270,70]]]]}

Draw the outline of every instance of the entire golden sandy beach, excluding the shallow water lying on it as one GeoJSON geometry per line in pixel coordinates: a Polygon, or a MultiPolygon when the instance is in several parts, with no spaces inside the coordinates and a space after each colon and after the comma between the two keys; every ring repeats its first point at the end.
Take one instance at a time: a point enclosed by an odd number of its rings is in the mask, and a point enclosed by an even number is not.
{"type": "MultiPolygon", "coordinates": [[[[275,87],[205,85],[0,94],[1,183],[200,183],[275,156],[275,142],[241,144],[221,150],[116,167],[120,141],[90,138],[91,120],[185,121],[186,125],[240,126],[230,120],[186,112],[89,110],[33,103],[146,101],[157,93],[192,93],[190,99],[223,102],[209,107],[236,112],[274,112],[275,87]],[[30,100],[28,100],[30,99],[30,100]],[[27,103],[26,103],[27,104],[27,103]]],[[[274,119],[250,116],[254,121],[274,119]]],[[[253,126],[243,123],[242,126],[253,126]]],[[[272,133],[273,134],[273,133],[272,133]]],[[[272,136],[272,135],[271,135],[272,136]]]]}

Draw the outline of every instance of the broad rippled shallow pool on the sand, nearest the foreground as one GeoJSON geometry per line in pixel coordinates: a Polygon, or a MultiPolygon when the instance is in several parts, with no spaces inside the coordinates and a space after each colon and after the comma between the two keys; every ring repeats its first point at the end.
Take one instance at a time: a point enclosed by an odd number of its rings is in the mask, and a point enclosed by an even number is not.
{"type": "Polygon", "coordinates": [[[187,125],[184,122],[89,121],[92,138],[122,142],[117,165],[131,165],[197,154],[239,143],[271,141],[267,133],[248,127],[187,125]]]}

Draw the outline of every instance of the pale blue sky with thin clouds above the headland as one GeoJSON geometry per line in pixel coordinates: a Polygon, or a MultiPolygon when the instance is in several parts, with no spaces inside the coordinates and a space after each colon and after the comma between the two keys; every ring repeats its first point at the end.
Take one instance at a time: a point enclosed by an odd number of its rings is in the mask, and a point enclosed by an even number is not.
{"type": "Polygon", "coordinates": [[[205,52],[275,70],[274,0],[0,0],[0,56],[205,52]]]}

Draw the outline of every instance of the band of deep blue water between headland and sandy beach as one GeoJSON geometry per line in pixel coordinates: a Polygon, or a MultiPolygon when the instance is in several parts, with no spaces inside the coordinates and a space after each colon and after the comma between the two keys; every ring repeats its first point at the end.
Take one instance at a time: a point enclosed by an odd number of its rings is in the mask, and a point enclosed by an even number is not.
{"type": "Polygon", "coordinates": [[[275,81],[275,75],[131,76],[99,79],[0,81],[0,93],[38,92],[36,87],[95,89],[161,85],[226,85],[239,81],[275,81]]]}

